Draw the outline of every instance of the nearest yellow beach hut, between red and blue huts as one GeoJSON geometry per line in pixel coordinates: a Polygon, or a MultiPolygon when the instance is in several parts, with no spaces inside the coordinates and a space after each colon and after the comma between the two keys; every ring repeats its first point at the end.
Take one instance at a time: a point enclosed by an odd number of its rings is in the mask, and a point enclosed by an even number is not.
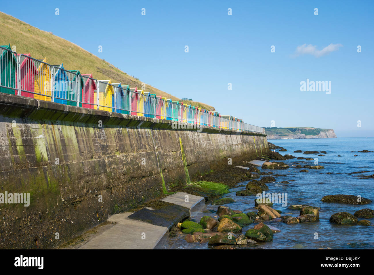
{"type": "Polygon", "coordinates": [[[35,87],[34,94],[35,99],[51,101],[51,91],[50,91],[50,78],[51,72],[50,67],[47,63],[47,58],[37,58],[40,62],[36,70],[38,73],[35,76],[35,87]]]}

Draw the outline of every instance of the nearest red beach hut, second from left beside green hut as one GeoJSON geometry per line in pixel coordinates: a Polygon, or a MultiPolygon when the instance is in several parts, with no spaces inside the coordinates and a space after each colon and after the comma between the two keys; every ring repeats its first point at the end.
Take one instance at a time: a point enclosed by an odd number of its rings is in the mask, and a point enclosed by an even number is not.
{"type": "MultiPolygon", "coordinates": [[[[18,54],[20,56],[21,54],[18,54]]],[[[22,56],[22,63],[19,65],[19,77],[17,77],[17,70],[16,70],[16,79],[20,81],[21,86],[21,95],[23,97],[32,97],[34,98],[35,92],[35,78],[37,77],[38,71],[35,67],[34,61],[31,58],[31,54],[24,54],[22,56]]],[[[18,88],[18,84],[16,83],[16,88],[18,88]]]]}

